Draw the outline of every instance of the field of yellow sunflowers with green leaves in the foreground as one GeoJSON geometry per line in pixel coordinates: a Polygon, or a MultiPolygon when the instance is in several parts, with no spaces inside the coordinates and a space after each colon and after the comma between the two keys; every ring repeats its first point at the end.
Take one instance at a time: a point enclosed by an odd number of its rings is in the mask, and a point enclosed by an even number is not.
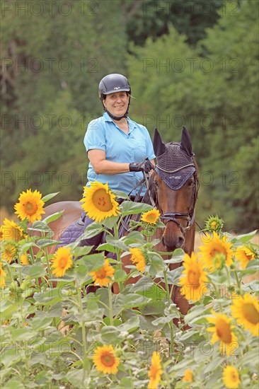
{"type": "Polygon", "coordinates": [[[107,231],[95,253],[78,240],[50,254],[54,194],[21,193],[21,221],[1,226],[1,388],[258,388],[258,280],[244,281],[259,269],[256,231],[233,236],[209,216],[197,252],[165,255],[151,239],[159,211],[95,185],[82,200],[95,220],[84,236],[107,231]],[[119,238],[122,218],[139,213],[119,238]],[[173,285],[191,304],[186,315],[173,285]]]}

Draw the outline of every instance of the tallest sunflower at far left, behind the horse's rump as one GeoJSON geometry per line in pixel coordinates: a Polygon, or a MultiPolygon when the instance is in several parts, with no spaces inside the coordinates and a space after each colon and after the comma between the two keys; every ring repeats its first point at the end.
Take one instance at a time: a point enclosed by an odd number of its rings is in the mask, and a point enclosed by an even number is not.
{"type": "Polygon", "coordinates": [[[19,202],[15,204],[14,209],[21,220],[28,219],[31,223],[35,220],[41,220],[41,214],[45,214],[43,210],[44,202],[41,199],[42,194],[30,189],[27,192],[20,194],[19,202]]]}

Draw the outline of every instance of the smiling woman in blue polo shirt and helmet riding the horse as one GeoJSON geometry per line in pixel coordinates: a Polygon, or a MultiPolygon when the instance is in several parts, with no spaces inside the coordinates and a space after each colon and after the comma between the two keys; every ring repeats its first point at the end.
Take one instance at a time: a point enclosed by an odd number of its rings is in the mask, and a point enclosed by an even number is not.
{"type": "MultiPolygon", "coordinates": [[[[105,112],[87,127],[84,145],[89,158],[86,186],[97,180],[108,182],[110,190],[131,194],[134,200],[143,196],[137,186],[154,164],[154,149],[149,132],[142,124],[128,117],[131,88],[122,74],[108,74],[99,83],[99,98],[105,112]],[[148,158],[149,161],[145,161],[148,158]]],[[[85,227],[93,220],[84,215],[85,227]]],[[[81,245],[95,245],[96,238],[81,241],[81,245]]]]}

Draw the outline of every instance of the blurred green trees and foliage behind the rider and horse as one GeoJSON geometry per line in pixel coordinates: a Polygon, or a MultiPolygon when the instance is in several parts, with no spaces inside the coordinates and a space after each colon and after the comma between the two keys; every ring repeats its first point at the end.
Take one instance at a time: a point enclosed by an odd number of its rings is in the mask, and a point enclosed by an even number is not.
{"type": "MultiPolygon", "coordinates": [[[[165,141],[188,128],[197,221],[257,228],[258,1],[1,1],[1,207],[22,190],[80,199],[98,82],[122,73],[130,117],[165,141]]],[[[57,201],[57,200],[56,200],[57,201]]]]}

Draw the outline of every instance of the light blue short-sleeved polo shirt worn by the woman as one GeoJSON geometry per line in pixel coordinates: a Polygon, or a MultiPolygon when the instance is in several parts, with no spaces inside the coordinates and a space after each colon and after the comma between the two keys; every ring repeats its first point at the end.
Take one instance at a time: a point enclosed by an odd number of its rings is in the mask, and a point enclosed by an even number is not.
{"type": "MultiPolygon", "coordinates": [[[[117,127],[107,112],[103,117],[92,120],[87,127],[84,137],[86,152],[91,149],[105,151],[105,158],[108,161],[132,163],[142,162],[146,157],[150,160],[156,156],[154,154],[153,144],[149,132],[142,124],[138,124],[127,117],[129,124],[129,133],[117,127]]],[[[97,180],[105,184],[108,182],[110,190],[121,190],[129,194],[135,185],[143,179],[142,172],[128,172],[120,174],[96,174],[91,162],[88,165],[86,186],[97,180]]],[[[139,187],[132,191],[132,195],[137,194],[139,187]]],[[[143,187],[142,195],[146,188],[143,187]]]]}

